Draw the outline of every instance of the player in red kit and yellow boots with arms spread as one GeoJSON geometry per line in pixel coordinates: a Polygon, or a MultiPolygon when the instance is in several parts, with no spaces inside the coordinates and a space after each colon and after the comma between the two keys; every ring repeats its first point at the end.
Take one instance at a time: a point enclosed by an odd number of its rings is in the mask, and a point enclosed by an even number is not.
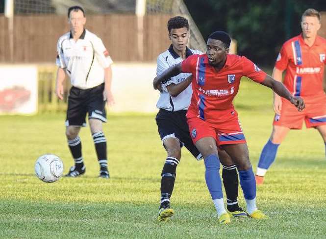
{"type": "MultiPolygon", "coordinates": [[[[193,95],[186,117],[192,140],[204,158],[206,184],[222,224],[229,223],[230,218],[223,202],[217,145],[230,155],[238,168],[248,214],[256,219],[268,218],[256,207],[256,182],[248,146],[232,104],[239,90],[240,78],[247,76],[273,89],[296,105],[298,110],[304,108],[300,97],[292,96],[282,83],[261,71],[246,57],[228,54],[230,42],[226,32],[212,33],[207,40],[206,54],[189,56],[153,81],[154,89],[159,89],[160,82],[181,72],[193,74],[193,95]]],[[[223,164],[223,158],[221,160],[223,164]]]]}

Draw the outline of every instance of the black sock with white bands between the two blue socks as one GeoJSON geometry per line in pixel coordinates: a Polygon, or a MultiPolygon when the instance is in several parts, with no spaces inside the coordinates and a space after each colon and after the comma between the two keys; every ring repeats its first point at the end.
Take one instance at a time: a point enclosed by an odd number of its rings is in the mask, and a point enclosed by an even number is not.
{"type": "Polygon", "coordinates": [[[222,178],[226,191],[227,210],[230,212],[238,211],[238,194],[239,194],[239,179],[237,168],[235,165],[222,165],[222,178]]]}

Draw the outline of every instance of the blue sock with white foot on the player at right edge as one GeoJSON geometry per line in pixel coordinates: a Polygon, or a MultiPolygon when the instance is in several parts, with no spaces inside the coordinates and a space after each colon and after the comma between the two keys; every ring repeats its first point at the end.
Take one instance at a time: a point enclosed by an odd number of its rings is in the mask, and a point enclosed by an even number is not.
{"type": "Polygon", "coordinates": [[[275,161],[278,146],[279,144],[268,140],[260,154],[256,175],[265,176],[267,169],[275,161]]]}

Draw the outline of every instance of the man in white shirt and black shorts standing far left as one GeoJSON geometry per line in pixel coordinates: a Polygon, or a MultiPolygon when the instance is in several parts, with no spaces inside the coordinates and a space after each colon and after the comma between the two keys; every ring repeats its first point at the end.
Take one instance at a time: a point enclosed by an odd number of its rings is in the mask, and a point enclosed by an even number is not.
{"type": "Polygon", "coordinates": [[[81,154],[81,141],[78,136],[80,127],[86,126],[86,114],[95,149],[100,164],[100,177],[109,178],[107,167],[106,139],[102,131],[102,122],[106,122],[105,101],[114,102],[111,93],[111,57],[101,39],[86,30],[84,10],[80,6],[68,9],[70,32],[58,40],[58,66],[55,93],[63,99],[63,82],[67,73],[72,88],[68,97],[66,118],[66,136],[75,166],[71,167],[68,177],[77,177],[85,173],[81,154]]]}

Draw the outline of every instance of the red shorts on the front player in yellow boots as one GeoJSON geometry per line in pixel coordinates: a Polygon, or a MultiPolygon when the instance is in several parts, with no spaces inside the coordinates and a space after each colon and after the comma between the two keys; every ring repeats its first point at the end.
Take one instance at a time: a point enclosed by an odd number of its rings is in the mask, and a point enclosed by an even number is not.
{"type": "Polygon", "coordinates": [[[220,110],[216,114],[216,119],[219,119],[218,122],[205,121],[197,117],[187,120],[194,144],[204,137],[213,137],[217,145],[246,143],[238,114],[234,109],[220,110]]]}

